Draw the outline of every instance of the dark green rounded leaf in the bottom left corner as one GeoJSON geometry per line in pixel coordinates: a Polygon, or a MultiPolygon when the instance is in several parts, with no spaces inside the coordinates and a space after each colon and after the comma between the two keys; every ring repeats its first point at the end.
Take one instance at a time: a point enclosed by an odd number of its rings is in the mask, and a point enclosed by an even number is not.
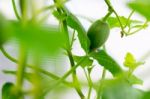
{"type": "Polygon", "coordinates": [[[15,85],[13,83],[5,83],[2,87],[2,99],[18,99],[14,88],[15,85]]]}

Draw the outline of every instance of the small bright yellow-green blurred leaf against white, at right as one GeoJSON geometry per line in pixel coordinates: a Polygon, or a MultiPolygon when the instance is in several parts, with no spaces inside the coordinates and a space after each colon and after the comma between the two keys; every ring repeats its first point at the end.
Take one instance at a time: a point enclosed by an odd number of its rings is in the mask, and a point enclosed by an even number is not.
{"type": "Polygon", "coordinates": [[[127,53],[125,56],[124,66],[134,70],[138,66],[144,64],[143,62],[137,62],[131,53],[127,53]]]}

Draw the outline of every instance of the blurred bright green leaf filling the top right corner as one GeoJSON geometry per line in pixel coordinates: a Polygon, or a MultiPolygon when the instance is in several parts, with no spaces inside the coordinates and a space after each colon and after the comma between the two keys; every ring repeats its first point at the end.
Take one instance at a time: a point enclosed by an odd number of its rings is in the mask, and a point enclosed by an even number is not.
{"type": "Polygon", "coordinates": [[[134,0],[128,6],[150,20],[150,0],[134,0]]]}

